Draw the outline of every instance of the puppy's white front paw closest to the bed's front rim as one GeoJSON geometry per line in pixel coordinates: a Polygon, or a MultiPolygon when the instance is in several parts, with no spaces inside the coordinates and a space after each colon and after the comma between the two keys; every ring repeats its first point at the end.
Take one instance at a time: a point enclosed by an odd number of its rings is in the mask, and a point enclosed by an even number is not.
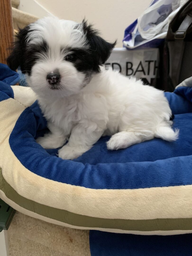
{"type": "Polygon", "coordinates": [[[62,159],[71,160],[81,156],[87,150],[82,150],[78,147],[63,146],[58,151],[58,156],[62,159]]]}

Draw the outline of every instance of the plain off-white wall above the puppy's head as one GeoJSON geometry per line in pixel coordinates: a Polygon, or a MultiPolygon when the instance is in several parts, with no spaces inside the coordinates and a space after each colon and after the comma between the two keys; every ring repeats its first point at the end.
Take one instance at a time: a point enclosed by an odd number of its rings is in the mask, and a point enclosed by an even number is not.
{"type": "MultiPolygon", "coordinates": [[[[25,0],[26,1],[26,0],[25,0]]],[[[28,0],[32,1],[32,0],[28,0]]],[[[81,22],[86,17],[102,36],[122,46],[125,28],[150,4],[151,0],[36,0],[61,19],[81,22]]]]}

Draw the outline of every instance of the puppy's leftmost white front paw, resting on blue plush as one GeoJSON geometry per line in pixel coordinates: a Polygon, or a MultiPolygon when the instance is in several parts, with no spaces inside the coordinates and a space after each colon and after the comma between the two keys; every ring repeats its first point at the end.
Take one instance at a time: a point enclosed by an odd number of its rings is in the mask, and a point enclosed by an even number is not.
{"type": "Polygon", "coordinates": [[[61,140],[56,136],[52,136],[52,134],[45,134],[44,137],[38,137],[36,142],[40,144],[43,148],[58,148],[65,144],[66,140],[61,140]]]}

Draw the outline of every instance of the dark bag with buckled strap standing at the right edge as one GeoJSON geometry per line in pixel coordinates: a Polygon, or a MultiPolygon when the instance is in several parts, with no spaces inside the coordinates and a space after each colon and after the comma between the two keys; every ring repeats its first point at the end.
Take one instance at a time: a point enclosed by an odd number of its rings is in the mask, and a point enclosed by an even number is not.
{"type": "Polygon", "coordinates": [[[192,0],[170,22],[160,48],[159,66],[161,89],[165,91],[174,91],[180,82],[192,76],[192,0]]]}

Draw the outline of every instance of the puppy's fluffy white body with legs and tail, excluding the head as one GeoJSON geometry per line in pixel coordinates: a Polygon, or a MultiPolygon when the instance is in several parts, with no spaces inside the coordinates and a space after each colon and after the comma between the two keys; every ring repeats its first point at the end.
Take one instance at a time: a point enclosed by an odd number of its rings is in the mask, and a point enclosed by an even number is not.
{"type": "Polygon", "coordinates": [[[39,103],[51,121],[51,134],[37,142],[56,148],[70,136],[68,144],[59,150],[63,159],[80,156],[103,134],[114,134],[107,143],[110,150],[154,137],[172,141],[178,136],[178,131],[170,127],[171,111],[163,92],[112,70],[102,68],[78,94],[64,99],[39,97],[39,103]]]}

